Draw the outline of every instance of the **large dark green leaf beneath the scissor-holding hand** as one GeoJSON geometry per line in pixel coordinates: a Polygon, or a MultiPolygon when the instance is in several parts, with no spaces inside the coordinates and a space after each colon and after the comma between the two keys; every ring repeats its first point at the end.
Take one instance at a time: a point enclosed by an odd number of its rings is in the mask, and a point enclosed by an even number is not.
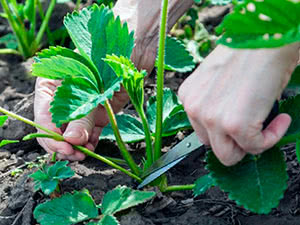
{"type": "Polygon", "coordinates": [[[238,205],[259,214],[277,207],[287,188],[284,153],[274,147],[259,156],[247,155],[240,163],[226,167],[209,152],[207,168],[213,182],[238,205]]]}

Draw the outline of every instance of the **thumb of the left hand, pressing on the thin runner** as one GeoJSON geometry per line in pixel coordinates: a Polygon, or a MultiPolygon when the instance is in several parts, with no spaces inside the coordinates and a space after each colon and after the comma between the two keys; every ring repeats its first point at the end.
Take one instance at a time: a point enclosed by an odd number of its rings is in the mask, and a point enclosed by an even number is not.
{"type": "Polygon", "coordinates": [[[73,145],[85,145],[88,143],[95,127],[95,110],[89,115],[70,122],[63,134],[65,140],[73,145]]]}

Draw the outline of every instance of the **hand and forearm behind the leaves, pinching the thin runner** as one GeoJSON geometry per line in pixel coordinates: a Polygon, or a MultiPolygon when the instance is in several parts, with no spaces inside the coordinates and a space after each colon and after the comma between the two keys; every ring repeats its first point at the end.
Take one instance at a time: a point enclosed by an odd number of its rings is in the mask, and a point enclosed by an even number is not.
{"type": "MultiPolygon", "coordinates": [[[[193,0],[171,0],[169,29],[177,19],[192,5],[193,0]]],[[[127,21],[130,30],[135,31],[136,45],[132,61],[138,69],[153,69],[156,56],[157,32],[159,27],[160,0],[119,0],[114,7],[115,15],[127,21]]],[[[63,134],[67,142],[57,142],[52,139],[38,139],[40,145],[49,153],[57,152],[58,158],[67,160],[83,160],[85,155],[72,148],[73,145],[83,145],[94,150],[103,127],[108,123],[108,116],[102,106],[98,106],[88,116],[72,121],[57,128],[51,121],[50,102],[60,81],[37,78],[35,88],[34,115],[35,122],[44,127],[63,134]]],[[[115,93],[111,105],[114,112],[120,111],[129,98],[124,89],[115,93]]],[[[42,132],[42,131],[39,131],[42,132]]]]}

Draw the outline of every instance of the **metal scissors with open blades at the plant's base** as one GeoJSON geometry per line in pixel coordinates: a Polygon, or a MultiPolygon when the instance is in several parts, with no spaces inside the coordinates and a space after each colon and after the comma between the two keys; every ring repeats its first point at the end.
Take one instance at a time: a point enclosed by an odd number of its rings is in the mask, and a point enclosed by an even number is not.
{"type": "MultiPolygon", "coordinates": [[[[263,129],[265,129],[270,122],[279,114],[279,102],[275,101],[271,112],[269,113],[267,119],[263,123],[263,129]]],[[[185,159],[192,152],[196,151],[204,144],[200,142],[196,133],[193,132],[188,137],[184,138],[181,142],[175,145],[166,154],[161,156],[156,160],[143,174],[144,179],[141,184],[139,184],[138,189],[143,188],[147,184],[154,181],[156,178],[160,177],[162,174],[167,172],[169,169],[174,167],[176,164],[185,159]]]]}

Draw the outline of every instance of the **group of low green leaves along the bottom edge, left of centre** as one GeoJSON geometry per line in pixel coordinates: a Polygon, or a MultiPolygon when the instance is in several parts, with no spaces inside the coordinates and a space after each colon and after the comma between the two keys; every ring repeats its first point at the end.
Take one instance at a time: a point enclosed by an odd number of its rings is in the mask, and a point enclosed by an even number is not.
{"type": "MultiPolygon", "coordinates": [[[[97,222],[89,225],[119,224],[114,214],[144,203],[155,196],[155,192],[135,191],[124,186],[118,186],[103,197],[100,206],[103,216],[97,222]]],[[[98,207],[87,190],[74,194],[67,193],[38,205],[34,217],[41,225],[71,225],[89,219],[99,219],[98,207]]]]}

